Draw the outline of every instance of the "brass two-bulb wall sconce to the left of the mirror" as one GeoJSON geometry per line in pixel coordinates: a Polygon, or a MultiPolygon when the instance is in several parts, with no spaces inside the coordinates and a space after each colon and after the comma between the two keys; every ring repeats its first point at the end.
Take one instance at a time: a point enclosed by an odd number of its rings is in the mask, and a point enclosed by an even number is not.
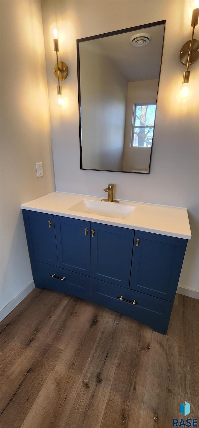
{"type": "Polygon", "coordinates": [[[59,52],[59,40],[58,40],[58,33],[59,28],[51,26],[50,33],[53,35],[53,45],[54,45],[54,51],[56,52],[56,58],[57,62],[54,66],[54,74],[56,78],[58,79],[58,86],[57,86],[57,103],[59,106],[63,107],[64,105],[64,99],[62,97],[62,90],[60,85],[60,80],[65,80],[68,75],[68,67],[63,61],[58,60],[58,52],[59,52]]]}

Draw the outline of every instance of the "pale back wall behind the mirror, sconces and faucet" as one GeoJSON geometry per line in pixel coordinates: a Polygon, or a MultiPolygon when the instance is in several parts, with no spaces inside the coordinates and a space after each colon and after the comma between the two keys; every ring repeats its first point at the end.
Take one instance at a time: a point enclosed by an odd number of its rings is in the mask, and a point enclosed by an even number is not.
{"type": "MultiPolygon", "coordinates": [[[[199,62],[191,65],[193,92],[181,101],[177,92],[185,67],[179,61],[181,46],[191,36],[189,0],[42,0],[47,81],[56,190],[104,196],[108,183],[116,184],[117,199],[187,207],[193,238],[188,242],[180,285],[199,290],[199,62]],[[83,171],[79,168],[79,123],[76,39],[94,34],[167,20],[155,138],[149,175],[83,171]],[[69,75],[63,82],[66,110],[55,109],[55,52],[49,37],[57,21],[62,31],[60,58],[69,75]]],[[[199,38],[199,26],[195,38],[199,38]]]]}

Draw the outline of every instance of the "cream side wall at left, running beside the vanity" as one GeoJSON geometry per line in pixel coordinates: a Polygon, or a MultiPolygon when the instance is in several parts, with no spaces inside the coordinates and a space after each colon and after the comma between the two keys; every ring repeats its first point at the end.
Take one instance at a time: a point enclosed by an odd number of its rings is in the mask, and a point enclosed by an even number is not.
{"type": "Polygon", "coordinates": [[[40,1],[1,1],[0,40],[0,310],[19,294],[3,318],[32,282],[20,205],[54,190],[40,1]],[[37,178],[40,161],[44,177],[37,178]]]}

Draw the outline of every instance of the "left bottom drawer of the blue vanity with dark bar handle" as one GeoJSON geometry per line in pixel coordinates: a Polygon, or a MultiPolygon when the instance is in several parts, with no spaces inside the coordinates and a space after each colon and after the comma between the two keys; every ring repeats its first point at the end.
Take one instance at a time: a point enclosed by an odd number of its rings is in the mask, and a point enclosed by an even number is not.
{"type": "Polygon", "coordinates": [[[50,288],[83,299],[91,296],[91,278],[70,270],[31,260],[35,287],[50,288]]]}

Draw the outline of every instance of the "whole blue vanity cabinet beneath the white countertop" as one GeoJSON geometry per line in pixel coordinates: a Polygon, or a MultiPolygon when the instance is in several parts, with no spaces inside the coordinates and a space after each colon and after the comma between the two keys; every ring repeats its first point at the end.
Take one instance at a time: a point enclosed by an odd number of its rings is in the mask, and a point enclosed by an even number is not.
{"type": "Polygon", "coordinates": [[[23,210],[35,286],[166,334],[187,240],[23,210]]]}

